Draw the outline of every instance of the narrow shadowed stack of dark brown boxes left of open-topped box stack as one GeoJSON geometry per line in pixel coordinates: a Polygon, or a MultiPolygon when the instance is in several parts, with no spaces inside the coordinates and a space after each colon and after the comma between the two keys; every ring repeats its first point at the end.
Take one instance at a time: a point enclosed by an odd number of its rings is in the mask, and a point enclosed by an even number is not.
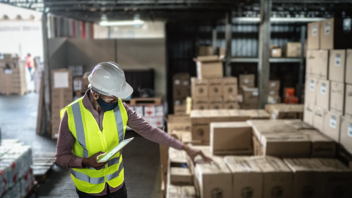
{"type": "Polygon", "coordinates": [[[186,115],[186,98],[191,94],[188,73],[178,73],[172,77],[172,98],[175,115],[186,115]]]}

